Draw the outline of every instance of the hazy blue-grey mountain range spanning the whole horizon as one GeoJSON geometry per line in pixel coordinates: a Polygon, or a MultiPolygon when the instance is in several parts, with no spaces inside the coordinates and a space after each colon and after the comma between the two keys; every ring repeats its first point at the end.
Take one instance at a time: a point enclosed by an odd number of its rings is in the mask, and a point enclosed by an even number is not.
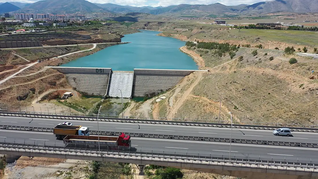
{"type": "MultiPolygon", "coordinates": [[[[7,4],[8,3],[3,3],[7,4]]],[[[107,12],[107,13],[128,13],[143,12],[153,15],[169,15],[174,13],[190,14],[193,12],[208,13],[239,13],[239,14],[262,14],[278,11],[287,12],[318,12],[318,0],[272,0],[259,2],[252,5],[240,4],[236,6],[226,6],[221,3],[209,5],[190,5],[180,4],[168,7],[133,7],[122,6],[112,3],[90,3],[86,0],[43,0],[35,3],[17,3],[11,2],[12,5],[22,9],[16,9],[15,12],[26,13],[85,13],[85,12],[107,12]]],[[[12,6],[13,7],[13,6],[12,6]]],[[[1,6],[0,6],[1,8],[1,6]]],[[[10,8],[8,10],[11,10],[10,8]]],[[[11,10],[14,11],[14,10],[11,10]]]]}

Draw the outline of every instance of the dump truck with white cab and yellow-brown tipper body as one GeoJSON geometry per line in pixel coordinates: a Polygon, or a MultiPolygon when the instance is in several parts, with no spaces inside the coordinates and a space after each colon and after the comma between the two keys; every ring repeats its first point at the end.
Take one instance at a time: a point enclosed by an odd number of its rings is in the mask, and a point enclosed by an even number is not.
{"type": "Polygon", "coordinates": [[[53,129],[56,139],[63,140],[67,135],[89,136],[89,128],[83,126],[57,125],[53,129]]]}

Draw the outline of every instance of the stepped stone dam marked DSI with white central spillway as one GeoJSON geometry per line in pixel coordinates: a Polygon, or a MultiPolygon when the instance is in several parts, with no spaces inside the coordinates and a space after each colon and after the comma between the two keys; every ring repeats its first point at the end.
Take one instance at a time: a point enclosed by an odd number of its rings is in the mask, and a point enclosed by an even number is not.
{"type": "Polygon", "coordinates": [[[183,77],[195,71],[134,69],[113,71],[112,68],[46,66],[63,74],[69,84],[84,95],[103,97],[153,97],[176,86],[183,77]]]}

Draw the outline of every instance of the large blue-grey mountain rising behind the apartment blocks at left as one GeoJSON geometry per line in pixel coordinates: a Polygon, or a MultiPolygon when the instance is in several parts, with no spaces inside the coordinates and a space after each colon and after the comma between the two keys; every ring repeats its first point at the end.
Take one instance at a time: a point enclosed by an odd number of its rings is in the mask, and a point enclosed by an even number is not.
{"type": "Polygon", "coordinates": [[[76,13],[107,12],[103,8],[85,0],[44,0],[32,3],[18,12],[33,13],[76,13]]]}

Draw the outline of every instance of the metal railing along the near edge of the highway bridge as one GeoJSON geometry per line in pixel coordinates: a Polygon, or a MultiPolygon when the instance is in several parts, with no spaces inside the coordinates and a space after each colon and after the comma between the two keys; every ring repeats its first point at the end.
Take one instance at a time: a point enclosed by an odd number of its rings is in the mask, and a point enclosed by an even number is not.
{"type": "MultiPolygon", "coordinates": [[[[260,169],[278,169],[278,170],[292,170],[292,171],[307,171],[318,172],[318,164],[315,163],[300,163],[300,162],[285,162],[285,161],[268,161],[268,160],[252,160],[243,158],[220,158],[213,156],[199,156],[199,155],[178,155],[178,154],[164,154],[164,153],[150,153],[150,152],[130,152],[130,151],[97,151],[95,149],[83,148],[62,148],[55,146],[39,146],[32,144],[14,144],[14,143],[0,143],[0,151],[5,152],[27,152],[33,155],[35,153],[41,154],[57,154],[57,155],[73,155],[73,156],[89,156],[97,157],[97,160],[105,160],[107,158],[130,159],[136,162],[149,161],[156,164],[156,161],[161,162],[176,162],[176,163],[194,163],[205,165],[221,165],[234,166],[245,168],[260,168],[260,169]]],[[[50,156],[52,157],[52,156],[50,156]]],[[[57,156],[55,156],[57,157],[57,156]]],[[[65,157],[63,157],[65,158],[65,157]]],[[[105,160],[106,161],[106,160],[105,160]]],[[[124,161],[123,161],[124,162],[124,161]]]]}

